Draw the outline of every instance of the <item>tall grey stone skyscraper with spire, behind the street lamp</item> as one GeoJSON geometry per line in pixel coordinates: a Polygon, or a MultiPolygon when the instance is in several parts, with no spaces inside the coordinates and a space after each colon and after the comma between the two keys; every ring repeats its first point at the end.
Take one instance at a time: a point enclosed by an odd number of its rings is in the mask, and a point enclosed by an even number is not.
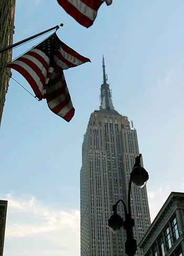
{"type": "MultiPolygon", "coordinates": [[[[108,219],[117,200],[127,202],[130,172],[139,155],[137,132],[127,116],[113,106],[103,57],[103,84],[100,107],[90,115],[82,147],[80,170],[81,256],[125,255],[126,233],[111,233],[108,219]]],[[[142,164],[142,163],[141,163],[142,164]]],[[[125,219],[123,206],[118,211],[125,219]]],[[[141,240],[150,225],[146,187],[131,188],[131,214],[135,219],[134,238],[141,240]]],[[[136,255],[143,255],[138,249],[136,255]]]]}

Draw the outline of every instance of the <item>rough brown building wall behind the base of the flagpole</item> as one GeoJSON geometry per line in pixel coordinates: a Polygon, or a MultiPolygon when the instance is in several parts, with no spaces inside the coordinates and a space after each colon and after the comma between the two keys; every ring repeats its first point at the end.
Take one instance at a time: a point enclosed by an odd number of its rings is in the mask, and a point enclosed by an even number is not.
{"type": "MultiPolygon", "coordinates": [[[[0,49],[13,44],[15,0],[0,1],[0,49]]],[[[0,125],[5,103],[5,95],[11,78],[10,68],[3,68],[12,60],[12,50],[0,54],[0,125]],[[8,74],[6,74],[5,72],[8,74]]]]}

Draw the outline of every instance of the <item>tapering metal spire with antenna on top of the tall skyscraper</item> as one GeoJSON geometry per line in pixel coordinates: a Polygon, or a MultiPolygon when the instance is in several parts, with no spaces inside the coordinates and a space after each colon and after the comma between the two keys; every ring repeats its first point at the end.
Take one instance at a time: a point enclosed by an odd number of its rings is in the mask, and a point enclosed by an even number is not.
{"type": "Polygon", "coordinates": [[[111,99],[111,92],[109,85],[107,84],[107,75],[105,72],[105,61],[103,55],[103,84],[101,85],[101,94],[100,94],[100,110],[115,110],[113,102],[111,99]]]}

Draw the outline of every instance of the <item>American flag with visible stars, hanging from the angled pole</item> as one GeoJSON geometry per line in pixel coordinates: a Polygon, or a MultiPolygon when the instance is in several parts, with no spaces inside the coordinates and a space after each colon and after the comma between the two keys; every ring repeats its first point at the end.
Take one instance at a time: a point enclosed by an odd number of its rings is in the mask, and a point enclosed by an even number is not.
{"type": "Polygon", "coordinates": [[[56,33],[7,67],[21,73],[39,100],[46,99],[50,110],[69,122],[75,109],[63,70],[90,62],[59,40],[56,33]]]}

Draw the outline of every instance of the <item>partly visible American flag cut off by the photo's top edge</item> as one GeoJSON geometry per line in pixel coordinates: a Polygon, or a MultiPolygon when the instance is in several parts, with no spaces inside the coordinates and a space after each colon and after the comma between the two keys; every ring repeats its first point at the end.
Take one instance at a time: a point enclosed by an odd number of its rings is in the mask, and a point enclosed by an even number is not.
{"type": "Polygon", "coordinates": [[[84,27],[93,25],[97,11],[103,2],[110,5],[113,0],[57,0],[60,6],[84,27]]]}

